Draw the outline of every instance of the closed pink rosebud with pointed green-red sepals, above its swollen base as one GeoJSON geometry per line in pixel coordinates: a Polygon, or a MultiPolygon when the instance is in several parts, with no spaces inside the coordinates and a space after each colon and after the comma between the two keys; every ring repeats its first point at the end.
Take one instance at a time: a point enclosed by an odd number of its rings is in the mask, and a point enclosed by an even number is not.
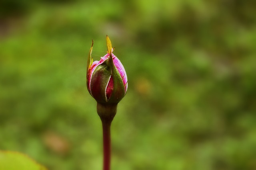
{"type": "Polygon", "coordinates": [[[92,46],[87,63],[87,88],[92,97],[101,104],[117,104],[127,91],[127,75],[120,60],[113,54],[107,36],[108,53],[100,61],[92,60],[92,46]]]}

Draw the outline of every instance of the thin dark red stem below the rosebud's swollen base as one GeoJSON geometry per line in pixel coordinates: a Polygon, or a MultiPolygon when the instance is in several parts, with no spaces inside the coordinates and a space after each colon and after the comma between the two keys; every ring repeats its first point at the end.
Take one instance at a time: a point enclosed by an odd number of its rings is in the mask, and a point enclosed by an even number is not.
{"type": "Polygon", "coordinates": [[[111,121],[109,121],[108,119],[102,120],[103,170],[110,170],[110,159],[111,159],[110,125],[111,125],[111,121]]]}

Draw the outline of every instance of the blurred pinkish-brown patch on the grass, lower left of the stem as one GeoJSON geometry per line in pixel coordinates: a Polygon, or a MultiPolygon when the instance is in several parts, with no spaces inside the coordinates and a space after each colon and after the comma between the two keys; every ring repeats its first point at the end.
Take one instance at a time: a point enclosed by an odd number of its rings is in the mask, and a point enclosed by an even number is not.
{"type": "Polygon", "coordinates": [[[70,144],[68,141],[64,137],[61,137],[59,134],[52,131],[44,133],[43,141],[46,147],[56,154],[66,155],[70,150],[70,144]]]}

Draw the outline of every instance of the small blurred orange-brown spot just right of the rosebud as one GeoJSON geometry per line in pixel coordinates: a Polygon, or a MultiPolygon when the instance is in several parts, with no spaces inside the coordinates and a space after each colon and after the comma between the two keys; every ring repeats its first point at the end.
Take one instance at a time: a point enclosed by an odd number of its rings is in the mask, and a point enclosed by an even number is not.
{"type": "Polygon", "coordinates": [[[148,96],[151,91],[151,84],[145,77],[139,77],[136,80],[136,91],[142,96],[148,96]]]}

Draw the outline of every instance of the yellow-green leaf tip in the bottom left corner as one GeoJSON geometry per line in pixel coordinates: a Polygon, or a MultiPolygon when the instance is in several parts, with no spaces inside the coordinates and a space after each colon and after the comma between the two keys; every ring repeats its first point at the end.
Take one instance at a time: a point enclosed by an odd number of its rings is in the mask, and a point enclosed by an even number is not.
{"type": "Polygon", "coordinates": [[[19,152],[0,151],[1,170],[46,170],[43,166],[19,152]]]}

